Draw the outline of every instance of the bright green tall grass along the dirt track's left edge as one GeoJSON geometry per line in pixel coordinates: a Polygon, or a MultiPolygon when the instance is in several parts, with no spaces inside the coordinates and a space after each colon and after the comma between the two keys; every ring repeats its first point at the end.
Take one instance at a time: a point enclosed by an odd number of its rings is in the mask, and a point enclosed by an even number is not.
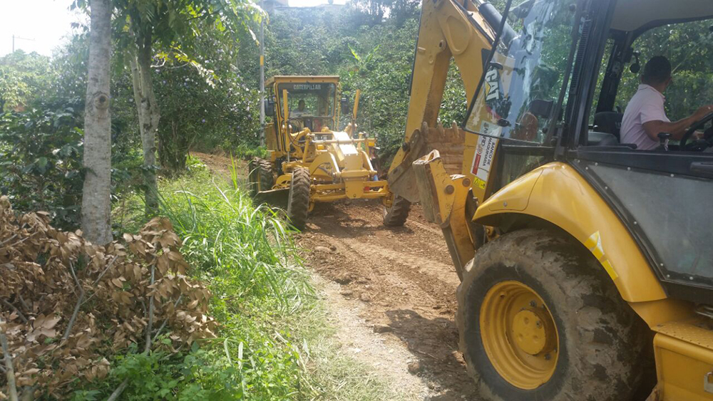
{"type": "Polygon", "coordinates": [[[183,238],[181,251],[193,275],[216,294],[210,313],[221,323],[219,338],[195,345],[182,358],[117,361],[122,370],[110,379],[119,382],[126,377],[122,371],[137,379],[125,392],[129,400],[299,398],[309,392],[304,350],[279,322],[309,308],[312,290],[290,233],[277,212],[252,205],[237,189],[241,182],[231,187],[207,170],[194,171],[163,182],[161,208],[183,238]],[[170,394],[160,393],[166,387],[170,394]]]}

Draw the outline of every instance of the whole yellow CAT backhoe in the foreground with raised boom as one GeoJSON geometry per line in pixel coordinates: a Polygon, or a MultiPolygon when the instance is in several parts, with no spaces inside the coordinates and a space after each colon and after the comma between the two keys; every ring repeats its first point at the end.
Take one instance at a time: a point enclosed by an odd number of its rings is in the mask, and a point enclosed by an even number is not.
{"type": "Polygon", "coordinates": [[[386,217],[420,201],[440,224],[483,399],[713,400],[713,113],[677,144],[664,132],[637,150],[616,108],[637,48],[679,24],[707,38],[713,1],[507,0],[501,17],[424,0],[421,12],[386,217]],[[444,129],[451,58],[470,103],[444,129]],[[461,166],[439,137],[461,142],[461,166]]]}

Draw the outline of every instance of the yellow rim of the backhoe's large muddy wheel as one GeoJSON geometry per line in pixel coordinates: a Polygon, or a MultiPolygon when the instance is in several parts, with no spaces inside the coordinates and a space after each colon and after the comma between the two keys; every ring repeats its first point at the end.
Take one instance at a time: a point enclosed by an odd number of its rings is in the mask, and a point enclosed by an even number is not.
{"type": "Polygon", "coordinates": [[[542,298],[519,281],[503,281],[481,305],[481,339],[488,359],[511,385],[533,390],[557,368],[557,326],[542,298]]]}

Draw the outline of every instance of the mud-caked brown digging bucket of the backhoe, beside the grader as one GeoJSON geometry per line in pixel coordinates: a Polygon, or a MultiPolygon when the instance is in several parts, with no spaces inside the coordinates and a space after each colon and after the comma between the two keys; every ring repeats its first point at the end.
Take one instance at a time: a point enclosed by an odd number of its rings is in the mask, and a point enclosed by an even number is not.
{"type": "Polygon", "coordinates": [[[463,170],[465,137],[465,131],[456,123],[453,123],[450,128],[444,128],[440,124],[437,127],[429,127],[426,123],[421,125],[421,129],[411,135],[409,142],[402,145],[406,156],[389,174],[391,191],[408,199],[409,202],[419,202],[412,164],[432,150],[438,150],[443,167],[449,174],[460,174],[463,170]]]}

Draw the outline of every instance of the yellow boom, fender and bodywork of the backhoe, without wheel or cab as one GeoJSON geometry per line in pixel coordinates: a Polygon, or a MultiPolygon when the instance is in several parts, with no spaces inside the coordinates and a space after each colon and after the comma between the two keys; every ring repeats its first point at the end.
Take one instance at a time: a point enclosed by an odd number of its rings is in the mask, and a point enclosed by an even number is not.
{"type": "MultiPolygon", "coordinates": [[[[478,130],[435,127],[451,58],[470,100],[478,84],[473,77],[483,73],[483,49],[493,41],[478,3],[465,3],[424,1],[404,146],[389,170],[391,190],[421,202],[424,217],[441,226],[459,276],[478,258],[483,241],[500,233],[543,225],[566,232],[595,256],[652,330],[658,384],[647,401],[713,400],[713,319],[697,314],[694,303],[667,295],[630,227],[573,166],[577,160],[535,165],[508,179],[498,170],[501,140],[475,133],[498,123],[492,113],[478,114],[486,108],[477,100],[465,127],[478,130]],[[473,227],[484,227],[485,238],[473,227]]],[[[493,61],[508,85],[513,66],[497,54],[493,61]]]]}

